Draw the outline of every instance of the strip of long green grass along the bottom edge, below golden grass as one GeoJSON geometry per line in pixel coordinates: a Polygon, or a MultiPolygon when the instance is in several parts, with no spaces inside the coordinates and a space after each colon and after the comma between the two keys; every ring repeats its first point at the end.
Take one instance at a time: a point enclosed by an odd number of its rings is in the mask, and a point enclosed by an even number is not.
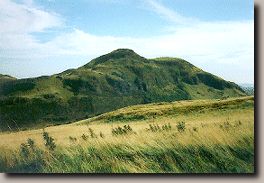
{"type": "Polygon", "coordinates": [[[4,172],[47,173],[250,173],[254,171],[252,139],[235,146],[179,145],[158,142],[152,146],[75,146],[49,153],[36,150],[30,157],[13,154],[14,166],[4,172]],[[34,154],[33,154],[34,153],[34,154]]]}

